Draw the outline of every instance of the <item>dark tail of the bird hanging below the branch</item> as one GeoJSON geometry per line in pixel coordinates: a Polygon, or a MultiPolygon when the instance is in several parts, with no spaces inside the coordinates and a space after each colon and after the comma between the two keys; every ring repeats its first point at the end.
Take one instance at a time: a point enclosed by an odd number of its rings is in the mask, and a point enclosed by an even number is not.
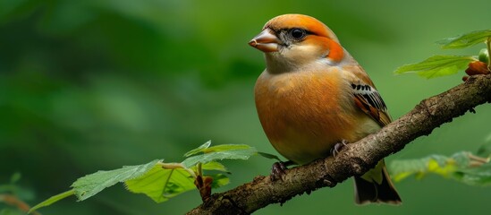
{"type": "Polygon", "coordinates": [[[370,169],[363,176],[354,176],[355,202],[366,204],[371,202],[401,204],[401,197],[385,169],[384,160],[380,160],[376,168],[370,169]]]}

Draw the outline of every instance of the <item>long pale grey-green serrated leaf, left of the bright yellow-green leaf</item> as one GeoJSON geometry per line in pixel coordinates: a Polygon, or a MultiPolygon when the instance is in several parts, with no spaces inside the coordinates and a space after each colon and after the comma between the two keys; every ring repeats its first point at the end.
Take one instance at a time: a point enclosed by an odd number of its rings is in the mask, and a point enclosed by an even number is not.
{"type": "Polygon", "coordinates": [[[159,159],[156,159],[143,165],[126,166],[109,171],[97,171],[94,174],[77,179],[77,181],[72,184],[73,191],[79,201],[86,200],[118,182],[124,182],[142,176],[148,172],[148,170],[154,168],[159,161],[159,159]]]}

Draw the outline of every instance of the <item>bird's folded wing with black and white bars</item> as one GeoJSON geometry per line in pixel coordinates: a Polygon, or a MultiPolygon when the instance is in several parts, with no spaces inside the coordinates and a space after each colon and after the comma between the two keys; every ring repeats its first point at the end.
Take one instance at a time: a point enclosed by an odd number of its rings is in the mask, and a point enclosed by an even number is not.
{"type": "MultiPolygon", "coordinates": [[[[368,74],[359,66],[355,69],[353,76],[356,77],[351,81],[351,88],[354,95],[354,101],[357,107],[371,116],[380,126],[388,125],[392,118],[389,115],[385,102],[375,88],[373,82],[369,79],[368,74]]],[[[351,70],[353,72],[353,70],[351,70]]]]}

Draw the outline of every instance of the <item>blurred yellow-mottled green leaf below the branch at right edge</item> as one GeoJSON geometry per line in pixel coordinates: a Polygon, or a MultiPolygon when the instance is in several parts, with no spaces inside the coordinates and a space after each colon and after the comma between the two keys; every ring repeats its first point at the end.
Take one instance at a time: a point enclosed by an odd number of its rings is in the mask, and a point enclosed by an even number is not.
{"type": "Polygon", "coordinates": [[[431,155],[421,159],[394,160],[389,168],[395,182],[408,176],[421,179],[428,174],[436,174],[466,185],[491,185],[489,159],[468,151],[455,153],[451,157],[431,155]]]}

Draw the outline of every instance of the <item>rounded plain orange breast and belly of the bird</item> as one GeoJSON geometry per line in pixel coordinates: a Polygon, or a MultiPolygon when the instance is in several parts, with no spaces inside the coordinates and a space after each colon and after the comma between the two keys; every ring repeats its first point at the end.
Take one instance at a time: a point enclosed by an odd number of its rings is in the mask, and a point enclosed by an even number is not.
{"type": "Polygon", "coordinates": [[[350,83],[343,81],[338,69],[264,72],[256,82],[255,96],[267,138],[296,163],[325,157],[336,142],[354,142],[366,135],[356,130],[367,116],[355,107],[350,83]]]}

